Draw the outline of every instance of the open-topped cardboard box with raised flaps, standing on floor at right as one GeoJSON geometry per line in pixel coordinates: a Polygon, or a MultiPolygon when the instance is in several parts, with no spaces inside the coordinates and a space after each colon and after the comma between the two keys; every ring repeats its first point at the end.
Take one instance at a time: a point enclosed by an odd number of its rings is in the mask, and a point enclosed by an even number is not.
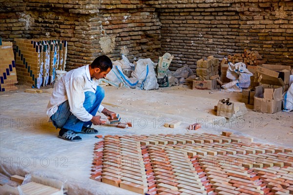
{"type": "Polygon", "coordinates": [[[282,87],[273,89],[272,99],[266,99],[264,98],[265,88],[263,86],[256,87],[253,110],[269,114],[280,112],[283,99],[282,91],[282,87]]]}

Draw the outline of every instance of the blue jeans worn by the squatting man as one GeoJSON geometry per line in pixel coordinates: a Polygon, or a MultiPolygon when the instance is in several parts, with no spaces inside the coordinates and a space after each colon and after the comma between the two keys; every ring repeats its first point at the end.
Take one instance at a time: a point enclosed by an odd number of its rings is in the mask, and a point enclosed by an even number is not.
{"type": "MultiPolygon", "coordinates": [[[[85,110],[92,116],[96,116],[98,108],[105,97],[104,89],[97,86],[95,94],[93,92],[84,92],[84,95],[85,110]]],[[[65,128],[75,132],[81,132],[83,126],[89,128],[92,125],[91,121],[81,121],[70,112],[68,100],[58,106],[58,110],[54,115],[52,115],[51,120],[56,128],[65,128]]]]}

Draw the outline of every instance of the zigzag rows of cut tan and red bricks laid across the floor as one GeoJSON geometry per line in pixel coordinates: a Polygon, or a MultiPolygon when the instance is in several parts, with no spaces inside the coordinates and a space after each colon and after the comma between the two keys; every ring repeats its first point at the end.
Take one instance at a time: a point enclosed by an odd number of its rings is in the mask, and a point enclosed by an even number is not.
{"type": "Polygon", "coordinates": [[[292,149],[212,134],[106,136],[92,179],[140,194],[293,193],[292,149]]]}

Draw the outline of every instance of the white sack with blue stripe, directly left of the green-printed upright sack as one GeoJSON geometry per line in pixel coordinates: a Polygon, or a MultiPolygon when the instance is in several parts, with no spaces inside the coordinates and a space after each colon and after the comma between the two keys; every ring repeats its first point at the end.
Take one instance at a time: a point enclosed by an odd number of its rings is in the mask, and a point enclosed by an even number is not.
{"type": "Polygon", "coordinates": [[[137,80],[137,88],[152,90],[158,89],[156,73],[154,67],[156,64],[151,59],[139,59],[134,63],[135,69],[131,73],[132,79],[137,80]]]}

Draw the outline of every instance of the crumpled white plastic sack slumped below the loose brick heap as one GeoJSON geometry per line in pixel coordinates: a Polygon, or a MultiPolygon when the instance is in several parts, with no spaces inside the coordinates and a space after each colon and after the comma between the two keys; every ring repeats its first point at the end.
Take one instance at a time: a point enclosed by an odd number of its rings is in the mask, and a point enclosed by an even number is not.
{"type": "Polygon", "coordinates": [[[232,64],[228,63],[227,78],[232,81],[223,85],[225,91],[242,92],[242,89],[249,88],[251,84],[251,76],[253,75],[242,62],[232,64]]]}

